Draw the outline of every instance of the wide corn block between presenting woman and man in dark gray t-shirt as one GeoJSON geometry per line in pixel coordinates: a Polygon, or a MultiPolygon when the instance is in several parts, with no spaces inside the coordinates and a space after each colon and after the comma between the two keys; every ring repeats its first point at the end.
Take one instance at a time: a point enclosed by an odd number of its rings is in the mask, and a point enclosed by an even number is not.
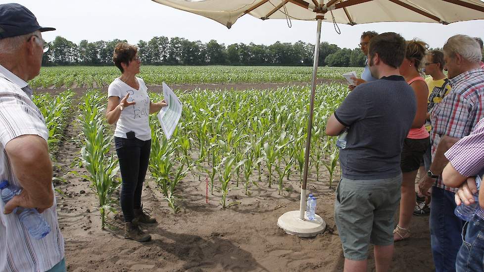
{"type": "MultiPolygon", "coordinates": [[[[347,93],[346,86],[322,85],[317,89],[311,167],[319,180],[321,164],[336,172],[335,138],[324,135],[326,120],[347,93]]],[[[303,87],[246,91],[190,91],[179,93],[184,103],[177,130],[167,140],[151,119],[152,147],[149,169],[176,213],[177,185],[190,172],[195,180],[207,177],[211,194],[218,193],[222,208],[230,190],[250,195],[254,186],[302,179],[309,107],[309,89],[303,87]]],[[[159,100],[152,94],[153,100],[159,100]]]]}

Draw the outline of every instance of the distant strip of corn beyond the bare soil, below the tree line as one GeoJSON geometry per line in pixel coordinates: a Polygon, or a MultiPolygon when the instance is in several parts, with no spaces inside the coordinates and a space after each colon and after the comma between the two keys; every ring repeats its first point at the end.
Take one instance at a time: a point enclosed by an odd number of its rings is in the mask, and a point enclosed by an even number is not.
{"type": "MultiPolygon", "coordinates": [[[[341,74],[361,67],[320,67],[318,78],[344,80],[341,74]]],[[[309,82],[312,67],[272,66],[142,66],[139,77],[147,85],[184,83],[262,83],[309,82]]],[[[29,82],[33,88],[108,86],[119,70],[116,67],[42,67],[38,77],[29,82]]]]}

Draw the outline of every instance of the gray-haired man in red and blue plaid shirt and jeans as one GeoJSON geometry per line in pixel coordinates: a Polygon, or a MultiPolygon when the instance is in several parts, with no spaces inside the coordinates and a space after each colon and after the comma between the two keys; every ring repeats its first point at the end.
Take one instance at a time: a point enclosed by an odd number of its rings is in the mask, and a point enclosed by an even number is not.
{"type": "Polygon", "coordinates": [[[455,271],[464,225],[454,215],[457,189],[445,186],[440,177],[448,163],[444,153],[468,136],[484,117],[484,70],[480,67],[479,44],[471,37],[455,35],[447,40],[443,52],[452,91],[432,113],[432,164],[427,177],[419,184],[419,193],[426,195],[434,185],[430,228],[436,272],[455,271]]]}

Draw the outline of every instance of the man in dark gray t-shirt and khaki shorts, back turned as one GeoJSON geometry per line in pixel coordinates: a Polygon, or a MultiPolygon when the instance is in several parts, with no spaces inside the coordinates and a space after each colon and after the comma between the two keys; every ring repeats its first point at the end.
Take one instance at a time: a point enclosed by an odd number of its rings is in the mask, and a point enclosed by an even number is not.
{"type": "Polygon", "coordinates": [[[366,271],[368,246],[387,271],[393,256],[393,215],[400,201],[400,154],[416,113],[412,88],[399,75],[405,40],[384,33],[370,41],[368,60],[379,80],[356,87],[329,118],[326,134],[348,128],[339,149],[342,172],[335,202],[345,268],[366,271]]]}

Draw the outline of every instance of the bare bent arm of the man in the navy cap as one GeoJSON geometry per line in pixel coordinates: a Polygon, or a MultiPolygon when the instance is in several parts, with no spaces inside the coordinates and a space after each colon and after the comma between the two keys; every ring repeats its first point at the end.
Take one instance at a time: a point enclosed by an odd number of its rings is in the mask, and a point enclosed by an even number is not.
{"type": "Polygon", "coordinates": [[[5,205],[5,214],[16,207],[37,208],[39,212],[54,203],[52,190],[52,163],[47,141],[37,135],[23,135],[5,145],[13,174],[22,186],[22,193],[14,196],[5,205]]]}

